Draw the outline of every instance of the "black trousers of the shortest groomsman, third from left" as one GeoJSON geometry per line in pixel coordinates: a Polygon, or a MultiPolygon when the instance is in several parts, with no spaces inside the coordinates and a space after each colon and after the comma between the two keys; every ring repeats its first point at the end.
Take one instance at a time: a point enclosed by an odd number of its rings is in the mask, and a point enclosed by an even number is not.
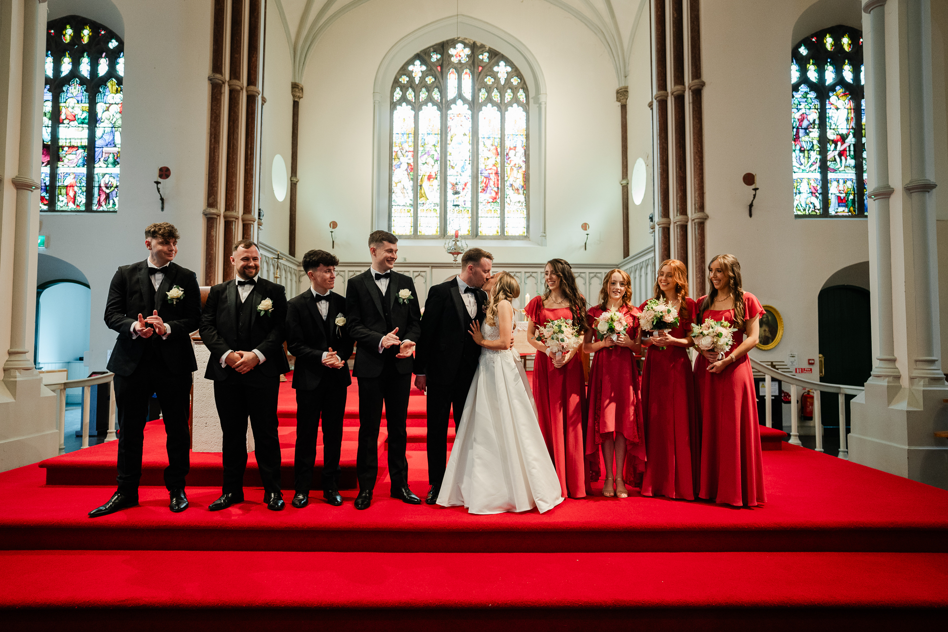
{"type": "MultiPolygon", "coordinates": [[[[343,369],[345,370],[345,369],[343,369]]],[[[297,443],[293,461],[297,493],[309,494],[316,461],[319,417],[322,417],[322,489],[338,489],[342,418],[346,412],[346,387],[323,379],[317,388],[297,388],[297,443]]]]}

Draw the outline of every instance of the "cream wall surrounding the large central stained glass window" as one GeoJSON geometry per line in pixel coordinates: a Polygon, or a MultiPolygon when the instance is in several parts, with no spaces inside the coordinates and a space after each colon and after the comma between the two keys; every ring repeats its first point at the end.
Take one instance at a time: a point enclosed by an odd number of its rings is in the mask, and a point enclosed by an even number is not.
{"type": "MultiPolygon", "coordinates": [[[[329,248],[328,224],[335,220],[339,223],[339,259],[367,259],[365,240],[374,229],[376,71],[401,38],[429,22],[453,15],[454,9],[431,0],[368,3],[340,17],[322,35],[302,81],[306,96],[301,100],[300,117],[298,253],[312,247],[329,248]]],[[[619,262],[618,85],[603,46],[586,27],[545,2],[487,0],[468,3],[463,9],[526,45],[538,60],[547,86],[547,245],[520,242],[491,245],[489,249],[501,264],[542,262],[554,257],[573,262],[619,262]],[[588,250],[583,249],[585,234],[579,228],[583,222],[592,226],[588,250]]],[[[464,28],[462,24],[461,36],[465,36],[464,28]]],[[[641,113],[642,97],[636,99],[640,106],[631,110],[641,113]]],[[[387,105],[387,95],[383,100],[387,105]]],[[[535,104],[531,108],[536,112],[535,104]]],[[[647,117],[647,111],[641,116],[647,117]]],[[[631,153],[630,159],[634,164],[631,153]]],[[[534,206],[530,212],[535,215],[544,209],[534,206]]],[[[399,254],[410,262],[446,258],[440,240],[430,245],[403,244],[399,254]]]]}

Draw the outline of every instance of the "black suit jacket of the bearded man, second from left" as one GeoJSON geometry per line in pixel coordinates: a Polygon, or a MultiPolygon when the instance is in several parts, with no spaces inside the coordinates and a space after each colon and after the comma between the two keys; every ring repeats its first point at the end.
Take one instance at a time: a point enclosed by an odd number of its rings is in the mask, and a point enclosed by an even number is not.
{"type": "MultiPolygon", "coordinates": [[[[283,285],[257,277],[253,291],[247,295],[254,310],[250,316],[250,342],[252,349],[264,354],[266,361],[252,371],[259,370],[266,376],[274,377],[290,370],[286,353],[283,352],[283,335],[286,324],[286,290],[283,285]],[[273,301],[273,311],[263,315],[256,306],[264,298],[273,301]]],[[[204,376],[209,380],[225,380],[237,374],[228,367],[221,367],[221,356],[237,349],[237,317],[240,309],[240,295],[237,294],[237,282],[228,280],[210,288],[208,300],[201,314],[201,340],[210,350],[208,370],[204,376]]]]}

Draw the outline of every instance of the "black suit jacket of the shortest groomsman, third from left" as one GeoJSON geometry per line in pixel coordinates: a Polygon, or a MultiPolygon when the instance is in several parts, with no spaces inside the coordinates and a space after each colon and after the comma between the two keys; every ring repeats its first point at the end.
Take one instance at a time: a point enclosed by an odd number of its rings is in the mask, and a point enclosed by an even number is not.
{"type": "Polygon", "coordinates": [[[323,380],[331,380],[340,388],[352,384],[349,367],[330,369],[322,364],[322,354],[330,347],[343,362],[353,354],[353,339],[349,337],[348,325],[336,324],[337,316],[345,316],[345,310],[346,299],[330,292],[324,325],[316,298],[309,288],[286,301],[286,347],[296,356],[293,388],[311,390],[319,387],[323,380]]]}

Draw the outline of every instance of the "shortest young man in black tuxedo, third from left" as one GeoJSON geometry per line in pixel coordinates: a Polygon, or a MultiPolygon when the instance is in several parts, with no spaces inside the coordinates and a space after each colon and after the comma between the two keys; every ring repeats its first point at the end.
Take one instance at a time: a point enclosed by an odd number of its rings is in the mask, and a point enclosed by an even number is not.
{"type": "Polygon", "coordinates": [[[339,494],[339,452],[346,388],[352,384],[349,365],[353,339],[346,326],[346,299],[336,286],[336,255],[310,250],[302,269],[310,286],[286,301],[286,346],[296,356],[293,388],[297,393],[297,443],[293,463],[296,494],[293,506],[309,504],[309,489],[316,461],[316,438],[322,415],[322,497],[331,505],[342,504],[339,494]]]}

